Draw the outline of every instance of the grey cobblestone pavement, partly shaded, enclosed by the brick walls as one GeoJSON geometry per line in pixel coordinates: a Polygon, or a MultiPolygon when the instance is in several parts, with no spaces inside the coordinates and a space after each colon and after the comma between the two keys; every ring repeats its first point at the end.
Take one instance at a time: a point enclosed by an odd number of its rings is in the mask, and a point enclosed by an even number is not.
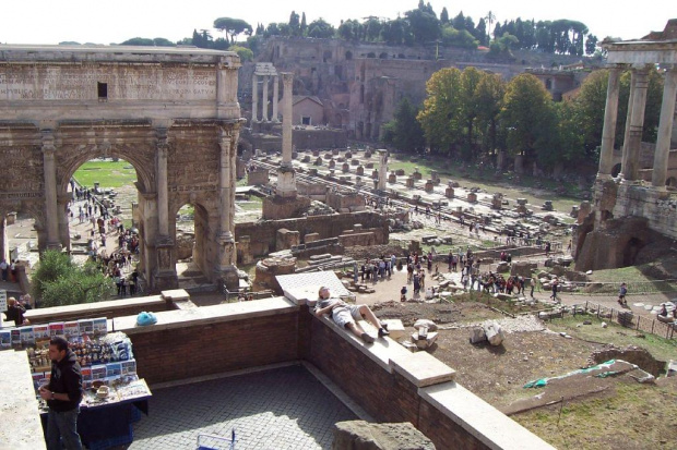
{"type": "Polygon", "coordinates": [[[195,449],[199,434],[231,429],[238,450],[330,449],[333,425],[356,418],[305,367],[288,366],[153,391],[129,449],[195,449]]]}

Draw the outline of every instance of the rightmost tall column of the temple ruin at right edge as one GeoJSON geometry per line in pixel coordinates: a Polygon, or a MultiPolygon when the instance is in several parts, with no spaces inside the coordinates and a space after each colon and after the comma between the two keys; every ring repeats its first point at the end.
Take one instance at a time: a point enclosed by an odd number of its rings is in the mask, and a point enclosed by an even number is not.
{"type": "Polygon", "coordinates": [[[670,136],[675,118],[676,96],[677,69],[673,68],[665,73],[661,122],[658,123],[656,150],[653,157],[653,173],[651,175],[651,183],[654,187],[658,188],[665,188],[665,180],[667,179],[667,159],[670,151],[670,136]]]}

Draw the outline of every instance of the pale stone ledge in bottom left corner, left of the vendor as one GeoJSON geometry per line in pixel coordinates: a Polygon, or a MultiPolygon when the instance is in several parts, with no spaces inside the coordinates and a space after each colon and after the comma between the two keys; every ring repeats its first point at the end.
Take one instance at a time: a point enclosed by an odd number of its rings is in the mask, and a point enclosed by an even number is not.
{"type": "Polygon", "coordinates": [[[45,435],[26,352],[0,352],[0,448],[44,450],[45,435]]]}

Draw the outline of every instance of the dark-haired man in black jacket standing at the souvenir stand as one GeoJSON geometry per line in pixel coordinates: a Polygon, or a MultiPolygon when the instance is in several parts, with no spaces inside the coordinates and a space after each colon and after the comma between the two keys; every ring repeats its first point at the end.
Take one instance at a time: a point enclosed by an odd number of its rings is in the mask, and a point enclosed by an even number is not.
{"type": "Polygon", "coordinates": [[[82,400],[82,375],[78,357],[68,348],[68,341],[55,336],[49,341],[51,376],[47,385],[39,387],[47,401],[47,448],[49,450],[82,449],[78,435],[78,414],[82,400]]]}

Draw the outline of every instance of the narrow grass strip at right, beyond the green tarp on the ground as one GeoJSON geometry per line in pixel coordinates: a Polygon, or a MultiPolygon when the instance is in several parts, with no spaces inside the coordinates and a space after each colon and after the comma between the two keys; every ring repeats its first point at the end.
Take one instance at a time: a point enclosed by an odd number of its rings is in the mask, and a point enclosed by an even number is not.
{"type": "Polygon", "coordinates": [[[548,328],[557,332],[565,331],[585,341],[613,343],[620,348],[641,346],[646,349],[653,357],[661,361],[674,360],[675,354],[677,354],[677,339],[665,339],[655,335],[643,333],[589,314],[553,319],[548,323],[548,328]],[[590,320],[592,325],[581,325],[583,320],[590,320]],[[608,324],[607,328],[602,328],[603,321],[608,324]]]}

